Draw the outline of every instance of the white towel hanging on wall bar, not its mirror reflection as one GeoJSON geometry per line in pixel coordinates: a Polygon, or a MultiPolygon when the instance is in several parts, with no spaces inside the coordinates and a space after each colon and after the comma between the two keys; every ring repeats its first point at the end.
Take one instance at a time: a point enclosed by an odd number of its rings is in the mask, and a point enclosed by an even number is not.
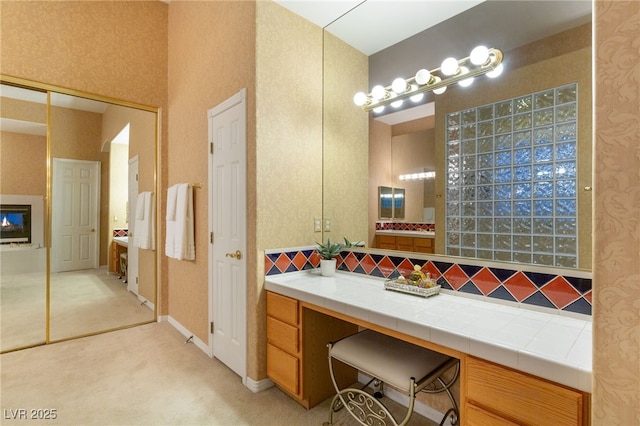
{"type": "Polygon", "coordinates": [[[193,188],[187,183],[173,185],[167,191],[167,236],[165,254],[178,260],[195,260],[193,224],[193,188]],[[174,188],[175,187],[175,188],[174,188]],[[173,194],[175,193],[175,208],[173,194]],[[175,212],[173,220],[169,213],[175,212]]]}

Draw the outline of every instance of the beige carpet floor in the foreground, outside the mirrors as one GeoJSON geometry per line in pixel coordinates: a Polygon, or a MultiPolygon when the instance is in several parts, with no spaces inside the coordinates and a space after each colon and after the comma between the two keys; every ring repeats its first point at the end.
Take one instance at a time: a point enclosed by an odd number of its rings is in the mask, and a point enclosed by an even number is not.
{"type": "MultiPolygon", "coordinates": [[[[305,410],[277,388],[252,393],[168,323],[0,355],[3,425],[321,425],[330,400],[305,410]],[[55,420],[12,420],[17,409],[55,420]]],[[[393,406],[392,411],[398,410],[393,406]]],[[[399,409],[402,412],[401,408],[399,409]]],[[[335,424],[354,425],[340,411],[335,424]]],[[[412,425],[435,423],[417,414],[412,425]]]]}

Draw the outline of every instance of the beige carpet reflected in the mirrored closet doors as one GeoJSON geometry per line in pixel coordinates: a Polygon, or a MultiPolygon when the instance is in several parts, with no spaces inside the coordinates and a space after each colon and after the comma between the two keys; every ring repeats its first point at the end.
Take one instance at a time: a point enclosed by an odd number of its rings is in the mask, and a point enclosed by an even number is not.
{"type": "MultiPolygon", "coordinates": [[[[43,343],[45,274],[3,274],[0,291],[0,351],[43,343]]],[[[153,310],[105,268],[51,274],[50,306],[51,341],[154,320],[153,310]]]]}

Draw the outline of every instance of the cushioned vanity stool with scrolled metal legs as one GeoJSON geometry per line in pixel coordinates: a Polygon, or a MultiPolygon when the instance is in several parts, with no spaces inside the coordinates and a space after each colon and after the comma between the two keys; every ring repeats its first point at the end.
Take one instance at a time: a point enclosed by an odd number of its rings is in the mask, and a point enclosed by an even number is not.
{"type": "MultiPolygon", "coordinates": [[[[413,414],[417,392],[447,392],[452,408],[449,409],[440,425],[447,418],[451,424],[458,423],[458,405],[449,388],[455,382],[460,371],[456,358],[405,342],[372,330],[364,330],[347,336],[335,343],[329,343],[329,373],[336,396],[330,406],[329,422],[333,424],[333,414],[345,407],[349,414],[362,425],[388,424],[401,426],[407,424],[413,414]],[[374,395],[357,388],[340,390],[333,373],[333,360],[341,361],[363,373],[387,383],[409,394],[407,414],[400,423],[396,421],[384,404],[374,395]],[[445,382],[442,374],[455,367],[454,376],[445,382]]],[[[371,383],[371,382],[369,382],[371,383]]],[[[366,387],[367,385],[365,385],[366,387]]]]}

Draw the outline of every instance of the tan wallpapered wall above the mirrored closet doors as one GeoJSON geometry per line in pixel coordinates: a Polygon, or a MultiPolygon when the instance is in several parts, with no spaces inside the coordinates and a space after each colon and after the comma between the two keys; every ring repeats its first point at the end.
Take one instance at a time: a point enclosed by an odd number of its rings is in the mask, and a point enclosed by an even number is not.
{"type": "MultiPolygon", "coordinates": [[[[167,22],[160,1],[3,1],[0,73],[166,112],[167,22]]],[[[108,223],[104,213],[101,223],[108,223]]],[[[163,313],[166,278],[158,283],[163,313]]]]}

